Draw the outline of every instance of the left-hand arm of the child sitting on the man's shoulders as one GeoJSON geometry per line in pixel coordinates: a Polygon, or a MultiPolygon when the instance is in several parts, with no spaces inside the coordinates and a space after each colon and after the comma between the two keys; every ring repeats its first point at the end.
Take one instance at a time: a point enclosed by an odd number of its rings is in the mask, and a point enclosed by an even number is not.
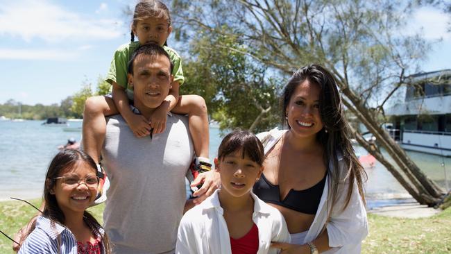
{"type": "Polygon", "coordinates": [[[151,134],[151,126],[148,124],[147,119],[142,115],[136,115],[130,110],[126,91],[124,87],[121,87],[116,82],[112,83],[112,97],[117,110],[124,117],[136,137],[145,137],[151,134]]]}

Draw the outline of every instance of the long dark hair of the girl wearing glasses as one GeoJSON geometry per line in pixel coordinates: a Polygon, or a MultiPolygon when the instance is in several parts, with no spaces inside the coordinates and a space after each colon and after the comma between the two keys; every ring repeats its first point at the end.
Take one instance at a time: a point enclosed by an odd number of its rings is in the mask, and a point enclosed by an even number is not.
{"type": "MultiPolygon", "coordinates": [[[[56,180],[61,173],[68,171],[75,167],[77,162],[83,161],[86,162],[92,171],[96,172],[96,162],[92,160],[90,155],[87,153],[74,150],[74,149],[65,149],[60,151],[55,158],[50,163],[49,169],[47,169],[46,180],[44,184],[44,210],[42,210],[42,216],[50,219],[51,221],[58,222],[62,225],[65,225],[65,214],[62,212],[58,202],[56,201],[56,196],[51,194],[51,190],[56,185],[56,180]]],[[[101,225],[99,222],[87,211],[83,213],[83,221],[87,223],[90,228],[96,233],[96,235],[101,235],[99,232],[99,228],[101,225]]],[[[103,244],[103,253],[110,253],[110,242],[108,240],[107,235],[103,235],[102,239],[103,244]]]]}

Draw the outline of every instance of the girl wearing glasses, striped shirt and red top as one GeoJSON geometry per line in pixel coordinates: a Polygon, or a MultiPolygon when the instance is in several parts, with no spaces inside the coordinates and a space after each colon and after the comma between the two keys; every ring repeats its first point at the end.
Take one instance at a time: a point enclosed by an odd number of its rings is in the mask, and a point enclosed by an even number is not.
{"type": "Polygon", "coordinates": [[[86,211],[96,198],[96,163],[83,151],[53,158],[44,184],[44,210],[19,248],[21,253],[110,253],[108,237],[86,211]]]}

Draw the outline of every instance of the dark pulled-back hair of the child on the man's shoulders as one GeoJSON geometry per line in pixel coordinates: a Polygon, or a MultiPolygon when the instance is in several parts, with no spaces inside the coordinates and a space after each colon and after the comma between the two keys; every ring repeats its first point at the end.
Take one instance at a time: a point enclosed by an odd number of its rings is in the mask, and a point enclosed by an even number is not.
{"type": "MultiPolygon", "coordinates": [[[[148,17],[165,18],[168,23],[168,27],[171,26],[171,15],[169,14],[169,8],[159,0],[140,0],[133,12],[133,24],[137,25],[139,20],[146,19],[148,17]]],[[[130,41],[135,41],[135,34],[130,32],[130,41]]],[[[167,46],[167,42],[164,42],[164,46],[167,46]]]]}

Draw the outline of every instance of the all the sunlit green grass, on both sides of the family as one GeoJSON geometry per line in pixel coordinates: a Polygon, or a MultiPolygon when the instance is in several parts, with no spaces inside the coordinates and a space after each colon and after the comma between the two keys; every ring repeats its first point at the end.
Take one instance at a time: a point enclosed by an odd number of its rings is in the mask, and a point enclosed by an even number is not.
{"type": "MultiPolygon", "coordinates": [[[[31,201],[36,206],[40,199],[31,201]]],[[[102,223],[104,206],[90,211],[102,223]]],[[[0,202],[0,230],[11,237],[33,217],[34,208],[21,201],[0,202]]],[[[424,219],[396,219],[368,214],[370,234],[361,253],[451,253],[451,209],[424,219]]],[[[12,242],[0,235],[0,253],[13,253],[12,242]]]]}

